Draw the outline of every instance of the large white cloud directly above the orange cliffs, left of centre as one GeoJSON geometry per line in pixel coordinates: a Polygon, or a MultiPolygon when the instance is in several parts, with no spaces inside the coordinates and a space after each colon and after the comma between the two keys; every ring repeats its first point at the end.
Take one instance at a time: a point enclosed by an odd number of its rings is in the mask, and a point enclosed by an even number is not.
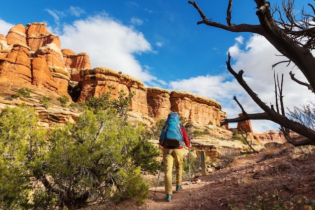
{"type": "Polygon", "coordinates": [[[88,53],[93,68],[108,67],[148,84],[157,81],[134,56],[151,53],[152,48],[144,35],[132,27],[109,17],[95,16],[64,25],[62,31],[61,47],[88,53]]]}

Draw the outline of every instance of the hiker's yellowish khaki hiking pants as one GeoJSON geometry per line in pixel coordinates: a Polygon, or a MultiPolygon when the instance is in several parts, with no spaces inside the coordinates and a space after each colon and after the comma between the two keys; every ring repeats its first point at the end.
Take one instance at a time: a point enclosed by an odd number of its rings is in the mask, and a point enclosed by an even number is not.
{"type": "Polygon", "coordinates": [[[164,149],[163,163],[165,173],[165,194],[172,195],[172,171],[173,171],[173,158],[175,159],[176,168],[176,185],[182,185],[182,173],[183,173],[183,149],[164,149]]]}

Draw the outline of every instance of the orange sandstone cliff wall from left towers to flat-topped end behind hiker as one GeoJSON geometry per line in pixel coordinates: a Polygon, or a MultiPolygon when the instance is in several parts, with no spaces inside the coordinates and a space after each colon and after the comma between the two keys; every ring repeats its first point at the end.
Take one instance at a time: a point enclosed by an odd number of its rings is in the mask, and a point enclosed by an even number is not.
{"type": "Polygon", "coordinates": [[[188,121],[219,125],[226,117],[214,100],[187,92],[146,88],[138,79],[109,68],[91,69],[89,55],[61,49],[59,37],[50,33],[45,23],[14,26],[6,37],[0,36],[0,43],[3,94],[25,87],[40,89],[43,95],[66,95],[74,102],[85,102],[107,93],[108,86],[113,86],[113,97],[117,98],[120,91],[134,93],[130,109],[144,118],[157,120],[178,112],[188,121]]]}

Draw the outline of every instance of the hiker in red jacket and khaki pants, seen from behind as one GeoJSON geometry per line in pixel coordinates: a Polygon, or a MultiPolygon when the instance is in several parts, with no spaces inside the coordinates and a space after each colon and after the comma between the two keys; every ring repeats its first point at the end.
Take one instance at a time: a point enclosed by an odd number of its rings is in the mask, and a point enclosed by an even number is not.
{"type": "MultiPolygon", "coordinates": [[[[171,129],[171,128],[170,128],[171,129]]],[[[184,151],[182,150],[184,147],[184,143],[186,147],[191,147],[190,139],[187,135],[187,131],[184,125],[179,121],[179,117],[177,113],[171,113],[168,116],[168,119],[163,127],[161,137],[160,137],[160,145],[163,146],[163,163],[164,163],[164,173],[165,173],[165,194],[166,201],[171,201],[172,199],[172,171],[173,171],[173,158],[175,159],[175,168],[176,168],[176,191],[182,190],[182,173],[183,173],[183,161],[184,161],[184,151]],[[181,135],[181,141],[179,145],[176,146],[174,143],[168,144],[168,139],[165,139],[167,136],[164,132],[168,132],[167,127],[172,127],[172,125],[168,125],[168,121],[170,118],[175,118],[179,127],[178,130],[181,135]],[[164,138],[164,139],[163,139],[164,138]],[[170,146],[172,145],[172,146],[170,146]],[[174,146],[175,145],[175,146],[174,146]]]]}

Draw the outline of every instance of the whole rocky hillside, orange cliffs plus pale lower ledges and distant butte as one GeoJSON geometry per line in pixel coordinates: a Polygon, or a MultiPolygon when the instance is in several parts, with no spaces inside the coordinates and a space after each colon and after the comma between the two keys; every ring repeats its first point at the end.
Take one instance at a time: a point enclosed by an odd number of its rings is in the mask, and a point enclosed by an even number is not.
{"type": "MultiPolygon", "coordinates": [[[[108,86],[116,87],[113,97],[121,90],[135,93],[130,121],[150,127],[170,112],[178,112],[189,122],[187,128],[192,134],[193,146],[197,151],[205,150],[208,157],[217,156],[219,149],[233,147],[245,151],[247,148],[240,141],[231,141],[233,132],[228,125],[219,127],[227,116],[222,111],[224,107],[212,99],[188,92],[147,88],[138,79],[121,72],[104,67],[92,69],[87,53],[61,49],[59,37],[50,33],[45,23],[19,24],[6,36],[0,34],[0,108],[21,103],[36,107],[41,124],[51,128],[56,123],[75,121],[80,114],[62,108],[56,100],[58,97],[66,96],[70,103],[85,102],[108,92],[108,86]],[[21,88],[31,90],[32,98],[8,100],[21,88]],[[54,106],[45,108],[39,101],[42,96],[52,97],[54,106]],[[195,135],[196,130],[205,135],[195,135]]],[[[245,128],[257,149],[265,142],[284,141],[278,131],[253,133],[250,121],[239,123],[237,129],[245,128]]]]}

